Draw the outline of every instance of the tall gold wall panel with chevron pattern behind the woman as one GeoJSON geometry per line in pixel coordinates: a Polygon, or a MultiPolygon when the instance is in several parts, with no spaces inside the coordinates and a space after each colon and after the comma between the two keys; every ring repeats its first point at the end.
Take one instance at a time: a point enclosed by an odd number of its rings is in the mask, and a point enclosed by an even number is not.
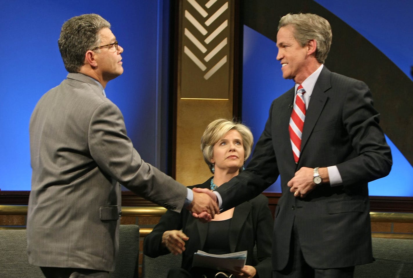
{"type": "Polygon", "coordinates": [[[204,129],[233,118],[233,1],[180,0],[178,30],[175,173],[188,186],[212,175],[199,147],[204,129]]]}

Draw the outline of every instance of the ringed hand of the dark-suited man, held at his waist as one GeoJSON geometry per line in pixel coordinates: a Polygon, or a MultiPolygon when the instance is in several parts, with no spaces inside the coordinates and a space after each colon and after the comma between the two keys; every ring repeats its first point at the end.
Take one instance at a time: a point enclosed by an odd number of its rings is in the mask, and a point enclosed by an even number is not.
{"type": "Polygon", "coordinates": [[[313,168],[301,167],[287,186],[290,187],[290,192],[294,193],[294,197],[304,198],[317,186],[313,182],[313,168]]]}

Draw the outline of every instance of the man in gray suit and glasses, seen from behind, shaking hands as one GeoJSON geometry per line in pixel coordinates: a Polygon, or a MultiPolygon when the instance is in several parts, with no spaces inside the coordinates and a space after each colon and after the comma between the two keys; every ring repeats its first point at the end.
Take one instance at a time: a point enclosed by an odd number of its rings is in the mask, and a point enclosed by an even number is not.
{"type": "Polygon", "coordinates": [[[119,183],[176,212],[186,207],[213,217],[217,208],[133,148],[119,108],[104,92],[123,73],[123,48],[109,22],[97,14],[73,17],[58,44],[69,74],[42,96],[30,119],[28,259],[50,278],[107,277],[119,246],[119,183]]]}

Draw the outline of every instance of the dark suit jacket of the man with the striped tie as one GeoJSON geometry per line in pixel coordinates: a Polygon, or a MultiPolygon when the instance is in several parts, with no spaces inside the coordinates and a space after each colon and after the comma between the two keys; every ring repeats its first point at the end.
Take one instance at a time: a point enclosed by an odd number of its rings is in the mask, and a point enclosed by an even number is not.
{"type": "Polygon", "coordinates": [[[247,169],[217,189],[223,209],[256,196],[280,175],[282,196],[273,232],[274,270],[282,270],[287,264],[294,222],[304,258],[311,267],[370,263],[367,182],[386,176],[392,165],[370,90],[364,82],[323,68],[306,111],[298,164],[294,163],[288,133],[293,99],[294,88],[271,104],[247,169]],[[287,187],[301,167],[334,165],[342,177],[341,185],[320,185],[304,199],[295,198],[287,187]]]}

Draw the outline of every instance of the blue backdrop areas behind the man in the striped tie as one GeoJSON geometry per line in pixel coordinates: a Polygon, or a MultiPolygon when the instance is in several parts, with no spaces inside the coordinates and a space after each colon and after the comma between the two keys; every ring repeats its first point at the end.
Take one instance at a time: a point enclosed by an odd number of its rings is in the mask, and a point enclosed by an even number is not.
{"type": "MultiPolygon", "coordinates": [[[[411,35],[413,2],[390,0],[318,0],[316,2],[366,37],[412,78],[410,70],[413,65],[413,36],[411,35]]],[[[276,26],[274,28],[276,30],[276,26]]],[[[334,30],[332,31],[334,37],[334,30]]],[[[332,45],[332,47],[338,46],[332,45]]],[[[294,86],[294,81],[282,78],[280,63],[275,58],[277,51],[275,42],[244,26],[242,119],[252,128],[256,140],[263,131],[272,100],[294,86]]],[[[363,61],[354,61],[355,66],[357,63],[363,61]]],[[[368,84],[369,81],[365,80],[365,82],[368,84]]],[[[412,100],[413,97],[409,97],[407,101],[412,100]]],[[[413,168],[389,138],[386,139],[392,148],[392,171],[387,177],[370,182],[369,193],[374,196],[413,196],[413,168]]],[[[280,181],[275,182],[267,191],[281,192],[280,181]]]]}

